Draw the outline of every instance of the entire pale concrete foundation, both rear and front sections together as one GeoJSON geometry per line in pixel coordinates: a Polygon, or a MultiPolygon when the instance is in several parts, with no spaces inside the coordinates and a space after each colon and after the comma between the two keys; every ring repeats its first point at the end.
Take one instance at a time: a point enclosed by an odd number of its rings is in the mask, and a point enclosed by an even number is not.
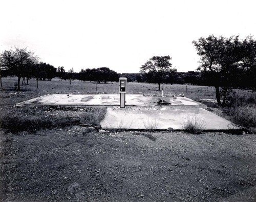
{"type": "Polygon", "coordinates": [[[16,104],[17,106],[78,106],[108,107],[100,123],[103,129],[182,130],[187,118],[197,117],[205,130],[240,129],[228,120],[207,110],[201,103],[186,97],[126,94],[126,108],[119,109],[120,94],[49,94],[16,104]],[[159,105],[160,103],[164,105],[159,105]],[[204,109],[203,109],[204,108],[204,109]]]}

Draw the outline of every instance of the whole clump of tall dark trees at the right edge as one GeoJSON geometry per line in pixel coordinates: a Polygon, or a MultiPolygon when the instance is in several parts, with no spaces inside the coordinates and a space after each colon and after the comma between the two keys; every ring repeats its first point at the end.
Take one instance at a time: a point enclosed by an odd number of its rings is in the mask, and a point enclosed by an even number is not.
{"type": "MultiPolygon", "coordinates": [[[[250,74],[250,82],[255,85],[256,45],[251,36],[241,40],[239,36],[226,38],[210,35],[193,41],[193,44],[201,58],[198,70],[202,70],[204,78],[208,78],[215,86],[219,105],[221,95],[224,106],[228,90],[241,86],[245,74],[250,74]],[[219,90],[220,87],[222,91],[219,90]]],[[[251,88],[255,88],[253,85],[251,88]]]]}

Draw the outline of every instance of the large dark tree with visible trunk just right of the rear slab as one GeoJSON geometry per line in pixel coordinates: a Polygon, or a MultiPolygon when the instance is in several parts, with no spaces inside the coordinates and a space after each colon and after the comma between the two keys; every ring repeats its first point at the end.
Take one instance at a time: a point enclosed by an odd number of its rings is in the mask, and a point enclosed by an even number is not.
{"type": "Polygon", "coordinates": [[[210,35],[207,38],[201,37],[198,41],[193,41],[193,44],[197,54],[201,57],[198,70],[210,72],[216,89],[218,105],[221,105],[221,93],[223,95],[222,105],[225,105],[227,91],[236,82],[234,72],[238,69],[242,59],[239,37],[225,38],[210,35]],[[221,92],[220,87],[223,88],[221,92]]]}

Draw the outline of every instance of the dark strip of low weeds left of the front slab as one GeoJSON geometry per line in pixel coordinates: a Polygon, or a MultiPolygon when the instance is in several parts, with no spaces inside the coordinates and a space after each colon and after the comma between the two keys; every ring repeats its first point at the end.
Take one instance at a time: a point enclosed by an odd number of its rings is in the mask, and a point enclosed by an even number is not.
{"type": "Polygon", "coordinates": [[[99,126],[104,117],[103,110],[95,110],[77,115],[69,114],[51,116],[42,111],[33,109],[12,109],[0,115],[0,127],[9,132],[34,131],[55,127],[69,127],[87,123],[91,126],[99,126]],[[82,118],[80,118],[82,116],[82,118]]]}

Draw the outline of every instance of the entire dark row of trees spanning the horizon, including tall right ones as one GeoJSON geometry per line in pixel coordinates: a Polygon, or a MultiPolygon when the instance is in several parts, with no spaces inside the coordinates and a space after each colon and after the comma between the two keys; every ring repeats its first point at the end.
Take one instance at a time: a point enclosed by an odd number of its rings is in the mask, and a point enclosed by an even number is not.
{"type": "Polygon", "coordinates": [[[140,67],[139,73],[119,74],[108,67],[66,71],[64,67],[55,68],[50,64],[39,62],[39,58],[26,48],[4,50],[0,54],[0,82],[2,76],[17,76],[28,84],[30,78],[38,80],[79,79],[81,82],[97,83],[118,82],[119,77],[127,77],[128,82],[147,82],[158,84],[191,84],[214,86],[219,105],[225,105],[227,94],[232,88],[249,88],[256,90],[256,41],[252,36],[240,39],[239,36],[229,38],[210,35],[193,41],[200,65],[197,71],[177,72],[172,68],[172,57],[153,56],[140,67]],[[221,103],[222,98],[222,103],[221,103]]]}

